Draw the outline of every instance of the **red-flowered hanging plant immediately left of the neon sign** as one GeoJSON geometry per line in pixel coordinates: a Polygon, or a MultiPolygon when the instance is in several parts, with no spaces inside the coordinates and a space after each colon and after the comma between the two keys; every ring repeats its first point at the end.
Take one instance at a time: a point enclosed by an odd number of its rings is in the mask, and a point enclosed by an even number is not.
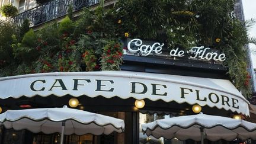
{"type": "Polygon", "coordinates": [[[109,41],[103,47],[103,55],[101,56],[101,69],[102,71],[120,71],[120,65],[123,62],[123,47],[117,41],[109,41]]]}

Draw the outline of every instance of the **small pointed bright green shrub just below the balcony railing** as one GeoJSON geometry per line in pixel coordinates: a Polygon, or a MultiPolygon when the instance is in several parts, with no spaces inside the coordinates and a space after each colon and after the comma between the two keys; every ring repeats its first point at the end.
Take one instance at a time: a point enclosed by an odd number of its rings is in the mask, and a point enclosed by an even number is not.
{"type": "Polygon", "coordinates": [[[69,17],[63,18],[59,24],[59,34],[73,34],[75,24],[69,17]]]}

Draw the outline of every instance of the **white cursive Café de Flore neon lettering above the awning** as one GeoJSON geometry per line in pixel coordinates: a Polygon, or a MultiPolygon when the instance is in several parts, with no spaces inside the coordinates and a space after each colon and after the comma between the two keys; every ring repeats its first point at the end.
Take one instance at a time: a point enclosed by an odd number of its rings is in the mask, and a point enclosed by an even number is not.
{"type": "MultiPolygon", "coordinates": [[[[142,56],[152,55],[153,53],[160,55],[162,53],[162,47],[164,43],[153,43],[152,45],[143,44],[143,41],[140,39],[130,40],[127,48],[131,53],[141,53],[142,56]]],[[[190,54],[191,59],[201,59],[201,60],[219,60],[220,62],[226,59],[224,53],[210,52],[209,47],[204,46],[194,46],[190,50],[184,51],[179,50],[179,48],[172,49],[169,52],[170,56],[173,57],[183,57],[185,54],[190,54]]]]}

